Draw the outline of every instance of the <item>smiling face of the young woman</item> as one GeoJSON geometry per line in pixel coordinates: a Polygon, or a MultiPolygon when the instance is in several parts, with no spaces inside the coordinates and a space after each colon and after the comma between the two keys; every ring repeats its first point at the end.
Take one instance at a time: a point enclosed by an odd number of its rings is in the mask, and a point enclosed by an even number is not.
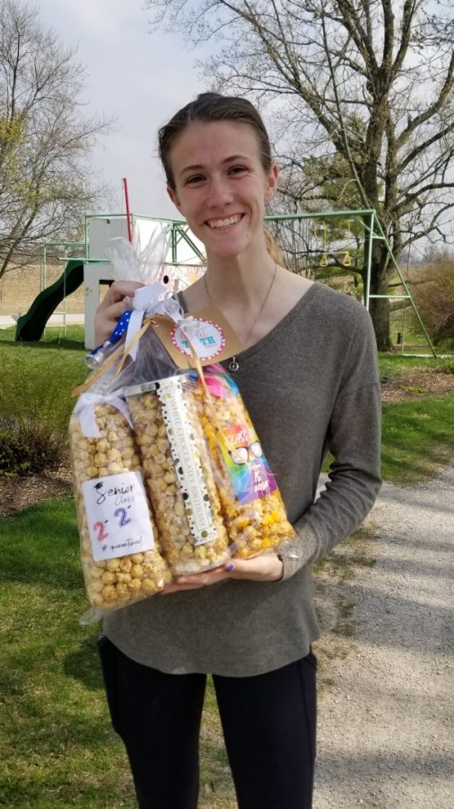
{"type": "Polygon", "coordinates": [[[208,258],[263,244],[265,203],[275,193],[278,171],[263,168],[254,129],[235,121],[192,123],[176,138],[170,164],[170,199],[208,258]]]}

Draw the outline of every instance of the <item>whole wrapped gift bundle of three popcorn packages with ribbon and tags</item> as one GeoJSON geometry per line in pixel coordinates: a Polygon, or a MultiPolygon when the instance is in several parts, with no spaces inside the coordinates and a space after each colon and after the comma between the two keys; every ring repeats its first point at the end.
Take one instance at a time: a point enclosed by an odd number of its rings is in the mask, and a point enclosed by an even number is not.
{"type": "MultiPolygon", "coordinates": [[[[131,245],[110,244],[117,277],[144,280],[131,245]]],[[[239,350],[221,314],[184,316],[152,275],[116,333],[94,352],[101,358],[92,352],[70,425],[83,572],[97,615],[174,576],[293,537],[238,387],[219,364],[239,350]]]]}

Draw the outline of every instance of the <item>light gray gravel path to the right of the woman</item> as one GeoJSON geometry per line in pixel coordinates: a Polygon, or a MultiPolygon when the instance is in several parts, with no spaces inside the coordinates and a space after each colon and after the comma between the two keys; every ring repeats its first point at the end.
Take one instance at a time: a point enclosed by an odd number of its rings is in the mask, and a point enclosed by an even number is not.
{"type": "Polygon", "coordinates": [[[349,543],[336,550],[353,565],[340,604],[352,636],[337,627],[319,642],[322,662],[337,648],[322,670],[332,683],[319,704],[314,809],[451,809],[454,465],[384,485],[365,525],[375,565],[355,562],[349,543]]]}

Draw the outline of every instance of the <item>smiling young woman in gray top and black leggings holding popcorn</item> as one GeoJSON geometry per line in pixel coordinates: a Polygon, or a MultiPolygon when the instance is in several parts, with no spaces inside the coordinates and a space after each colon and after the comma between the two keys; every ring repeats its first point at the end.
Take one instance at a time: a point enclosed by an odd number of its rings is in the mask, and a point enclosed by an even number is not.
{"type": "MultiPolygon", "coordinates": [[[[244,350],[237,381],[297,539],[114,612],[100,655],[112,722],[143,809],[196,809],[198,733],[211,673],[240,809],[311,806],[319,636],[311,565],[363,520],[380,488],[380,388],[370,318],[352,298],[292,274],[266,249],[278,170],[258,111],[204,93],[159,133],[170,199],[205,244],[205,276],[181,297],[213,305],[244,350]],[[316,500],[322,460],[334,456],[316,500]]],[[[109,337],[134,284],[100,305],[109,337]]]]}

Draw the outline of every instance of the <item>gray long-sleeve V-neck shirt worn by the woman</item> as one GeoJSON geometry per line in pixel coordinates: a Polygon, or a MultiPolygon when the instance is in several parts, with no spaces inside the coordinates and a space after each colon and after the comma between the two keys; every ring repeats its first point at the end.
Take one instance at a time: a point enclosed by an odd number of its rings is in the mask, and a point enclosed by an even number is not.
{"type": "Polygon", "coordinates": [[[297,538],[280,582],[229,580],[118,609],[110,640],[161,671],[241,677],[301,658],[319,636],[311,565],[362,522],[380,489],[380,386],[371,319],[314,284],[239,356],[234,374],[297,538]],[[335,460],[314,502],[319,470],[335,460]]]}

